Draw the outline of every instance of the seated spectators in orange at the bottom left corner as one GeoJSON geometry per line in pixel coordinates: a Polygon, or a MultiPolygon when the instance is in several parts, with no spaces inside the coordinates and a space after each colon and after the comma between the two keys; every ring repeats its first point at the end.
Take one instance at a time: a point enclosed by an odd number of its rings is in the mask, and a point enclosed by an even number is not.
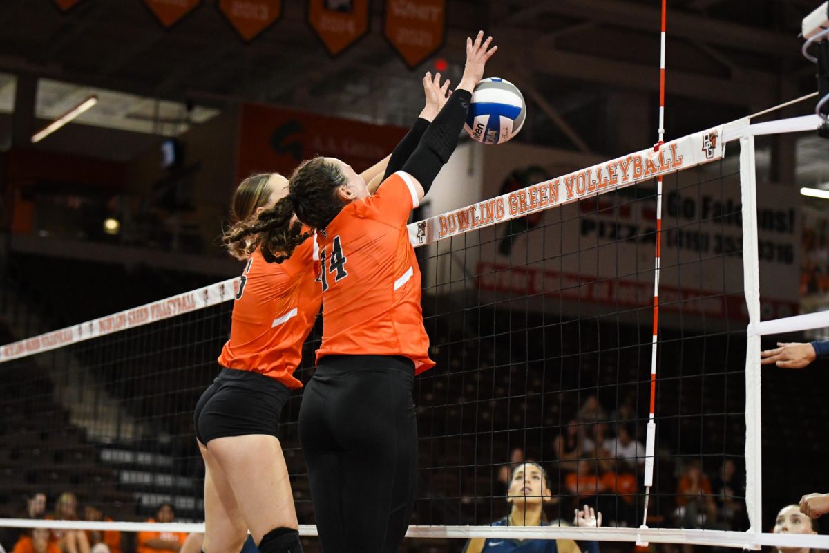
{"type": "MultiPolygon", "coordinates": [[[[79,516],[74,493],[57,497],[54,508],[47,509],[46,494],[32,493],[17,518],[43,521],[113,521],[99,505],[90,503],[79,516]]],[[[173,522],[175,509],[169,503],[158,506],[156,515],[147,522],[173,522]]],[[[187,533],[141,531],[137,536],[116,530],[64,530],[58,528],[4,528],[0,533],[0,551],[9,553],[176,553],[182,548],[187,533]],[[134,537],[134,540],[133,540],[134,537]]]]}

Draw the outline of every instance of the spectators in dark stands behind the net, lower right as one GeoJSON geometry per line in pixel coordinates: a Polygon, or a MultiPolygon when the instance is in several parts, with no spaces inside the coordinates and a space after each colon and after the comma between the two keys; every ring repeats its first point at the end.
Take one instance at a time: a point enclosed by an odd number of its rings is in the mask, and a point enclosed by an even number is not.
{"type": "MultiPolygon", "coordinates": [[[[638,438],[638,424],[630,397],[607,415],[596,396],[584,400],[552,444],[550,473],[560,474],[560,512],[589,504],[604,513],[605,526],[638,526],[641,509],[645,445],[638,438]]],[[[506,494],[510,475],[527,458],[521,448],[511,450],[510,461],[497,473],[495,489],[506,494]]],[[[658,517],[662,526],[745,530],[745,486],[733,458],[722,460],[714,477],[703,470],[699,457],[677,459],[671,475],[676,494],[668,517],[658,517]]],[[[555,482],[551,488],[555,489],[555,482]]]]}

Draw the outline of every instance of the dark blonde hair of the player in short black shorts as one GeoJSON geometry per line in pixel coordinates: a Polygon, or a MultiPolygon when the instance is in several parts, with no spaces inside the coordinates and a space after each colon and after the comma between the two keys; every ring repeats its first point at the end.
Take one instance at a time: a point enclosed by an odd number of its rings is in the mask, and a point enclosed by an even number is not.
{"type": "Polygon", "coordinates": [[[251,175],[240,182],[233,192],[230,201],[231,224],[221,240],[237,260],[247,260],[256,250],[255,241],[250,240],[250,226],[256,222],[256,209],[268,203],[270,177],[269,172],[251,175]]]}

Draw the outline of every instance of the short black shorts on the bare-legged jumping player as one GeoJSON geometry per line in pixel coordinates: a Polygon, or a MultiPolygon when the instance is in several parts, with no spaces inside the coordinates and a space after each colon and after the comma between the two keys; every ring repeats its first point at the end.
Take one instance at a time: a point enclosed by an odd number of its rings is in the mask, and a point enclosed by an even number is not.
{"type": "Polygon", "coordinates": [[[279,420],[289,395],[288,386],[269,376],[222,367],[196,403],[196,438],[206,445],[227,436],[279,437],[279,420]]]}

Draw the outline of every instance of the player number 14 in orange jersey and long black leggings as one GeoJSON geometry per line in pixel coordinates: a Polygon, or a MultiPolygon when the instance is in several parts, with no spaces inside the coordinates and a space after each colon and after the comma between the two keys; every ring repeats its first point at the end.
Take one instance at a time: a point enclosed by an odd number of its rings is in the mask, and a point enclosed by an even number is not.
{"type": "Polygon", "coordinates": [[[302,243],[294,212],[317,232],[322,345],[299,437],[325,553],[398,551],[409,525],[417,473],[412,386],[434,361],[406,222],[458,145],[472,91],[496,51],[491,42],[482,32],[468,39],[457,90],[401,167],[389,164],[374,196],[347,163],[314,158],[293,173],[288,197],[259,216],[261,247],[277,258],[293,259],[302,243]]]}

